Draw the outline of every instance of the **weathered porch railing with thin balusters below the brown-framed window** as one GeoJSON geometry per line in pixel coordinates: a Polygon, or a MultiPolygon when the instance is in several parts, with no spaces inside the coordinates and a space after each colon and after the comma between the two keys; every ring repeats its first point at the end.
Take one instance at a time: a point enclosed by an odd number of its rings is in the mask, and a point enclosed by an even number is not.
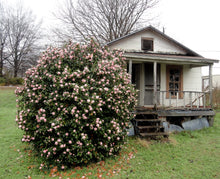
{"type": "Polygon", "coordinates": [[[162,107],[210,108],[210,92],[157,91],[157,105],[162,107]]]}

